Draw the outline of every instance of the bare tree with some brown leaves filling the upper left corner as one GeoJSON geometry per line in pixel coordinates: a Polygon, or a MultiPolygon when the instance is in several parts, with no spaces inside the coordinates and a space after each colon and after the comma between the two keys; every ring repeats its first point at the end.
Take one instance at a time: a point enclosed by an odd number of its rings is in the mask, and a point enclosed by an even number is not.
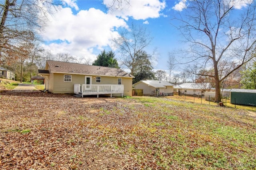
{"type": "Polygon", "coordinates": [[[20,44],[33,44],[38,39],[53,6],[52,0],[0,1],[0,63],[11,64],[23,55],[20,44]]]}

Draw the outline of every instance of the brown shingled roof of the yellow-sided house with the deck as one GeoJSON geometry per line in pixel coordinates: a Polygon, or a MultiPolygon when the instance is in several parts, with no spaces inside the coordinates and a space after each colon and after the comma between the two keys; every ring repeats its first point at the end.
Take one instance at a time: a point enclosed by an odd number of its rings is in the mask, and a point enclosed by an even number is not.
{"type": "Polygon", "coordinates": [[[50,72],[70,73],[70,74],[89,74],[89,75],[104,75],[104,76],[119,76],[134,78],[128,72],[119,68],[110,68],[103,66],[92,66],[85,64],[66,63],[60,61],[47,60],[50,72]]]}

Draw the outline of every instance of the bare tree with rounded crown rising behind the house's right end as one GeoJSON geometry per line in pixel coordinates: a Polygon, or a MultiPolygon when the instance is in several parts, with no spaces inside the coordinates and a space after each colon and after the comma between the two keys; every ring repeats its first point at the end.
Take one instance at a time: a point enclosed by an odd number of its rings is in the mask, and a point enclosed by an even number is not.
{"type": "MultiPolygon", "coordinates": [[[[118,38],[113,39],[122,55],[121,64],[130,69],[131,74],[134,73],[136,67],[136,57],[150,45],[152,39],[146,28],[136,27],[134,24],[132,24],[130,31],[122,31],[118,38]]],[[[148,59],[154,59],[155,55],[154,50],[151,54],[148,54],[148,59]]]]}

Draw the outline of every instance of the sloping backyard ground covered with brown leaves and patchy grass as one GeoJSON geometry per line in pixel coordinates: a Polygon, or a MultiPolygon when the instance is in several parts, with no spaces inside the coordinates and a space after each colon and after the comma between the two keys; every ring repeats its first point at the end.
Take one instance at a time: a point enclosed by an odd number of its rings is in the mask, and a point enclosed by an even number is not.
{"type": "Polygon", "coordinates": [[[0,93],[0,169],[255,169],[256,117],[168,98],[0,93]]]}

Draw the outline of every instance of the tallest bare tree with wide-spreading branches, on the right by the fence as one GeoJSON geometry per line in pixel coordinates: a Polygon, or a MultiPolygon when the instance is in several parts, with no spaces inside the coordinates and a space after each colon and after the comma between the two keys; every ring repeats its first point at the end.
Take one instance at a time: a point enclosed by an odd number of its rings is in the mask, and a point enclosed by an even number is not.
{"type": "Polygon", "coordinates": [[[190,43],[186,60],[214,68],[213,75],[202,76],[214,78],[215,102],[221,101],[221,82],[255,57],[256,1],[248,1],[242,10],[236,9],[242,2],[246,1],[189,1],[189,6],[175,18],[181,23],[177,28],[190,43]],[[222,62],[226,62],[225,72],[220,67],[222,62]]]}

